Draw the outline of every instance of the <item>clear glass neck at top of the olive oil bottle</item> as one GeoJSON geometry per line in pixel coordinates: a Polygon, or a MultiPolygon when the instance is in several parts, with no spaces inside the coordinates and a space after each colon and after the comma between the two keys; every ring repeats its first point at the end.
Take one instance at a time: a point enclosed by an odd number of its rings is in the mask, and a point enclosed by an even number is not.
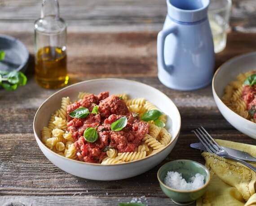
{"type": "Polygon", "coordinates": [[[41,18],[49,16],[59,19],[59,3],[57,0],[43,0],[41,18]]]}

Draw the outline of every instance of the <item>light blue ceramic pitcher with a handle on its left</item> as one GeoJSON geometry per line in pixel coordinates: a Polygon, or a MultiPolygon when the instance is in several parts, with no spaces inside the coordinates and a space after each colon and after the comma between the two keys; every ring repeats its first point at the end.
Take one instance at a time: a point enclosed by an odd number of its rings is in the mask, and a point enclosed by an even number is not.
{"type": "Polygon", "coordinates": [[[209,0],[167,0],[168,14],[157,36],[158,77],[176,90],[212,81],[214,48],[207,18],[209,0]]]}

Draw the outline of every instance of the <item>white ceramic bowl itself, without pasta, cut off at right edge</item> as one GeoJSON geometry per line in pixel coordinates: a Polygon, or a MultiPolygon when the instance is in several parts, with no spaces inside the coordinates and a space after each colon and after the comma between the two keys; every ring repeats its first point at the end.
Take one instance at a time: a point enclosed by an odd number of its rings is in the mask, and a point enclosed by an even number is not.
{"type": "Polygon", "coordinates": [[[236,80],[239,73],[256,69],[256,52],[234,57],[216,71],[212,79],[212,93],[221,114],[241,133],[256,139],[256,124],[239,116],[222,102],[225,86],[236,80]]]}

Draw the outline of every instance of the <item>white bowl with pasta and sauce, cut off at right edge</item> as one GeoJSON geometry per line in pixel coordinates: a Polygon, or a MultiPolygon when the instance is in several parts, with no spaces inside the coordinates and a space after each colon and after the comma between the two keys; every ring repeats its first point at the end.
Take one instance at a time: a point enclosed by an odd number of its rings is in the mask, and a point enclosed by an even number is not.
{"type": "Polygon", "coordinates": [[[228,60],[216,71],[212,92],[225,119],[256,139],[256,52],[228,60]]]}

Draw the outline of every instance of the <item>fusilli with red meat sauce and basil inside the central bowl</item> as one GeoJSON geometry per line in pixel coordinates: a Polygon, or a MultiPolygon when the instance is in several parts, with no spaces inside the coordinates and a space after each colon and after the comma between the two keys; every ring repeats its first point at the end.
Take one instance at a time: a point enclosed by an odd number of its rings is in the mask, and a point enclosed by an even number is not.
{"type": "Polygon", "coordinates": [[[57,154],[87,163],[125,163],[154,154],[171,141],[164,128],[166,115],[144,98],[107,91],[80,92],[79,97],[73,103],[62,98],[61,108],[42,130],[42,141],[57,154]]]}

